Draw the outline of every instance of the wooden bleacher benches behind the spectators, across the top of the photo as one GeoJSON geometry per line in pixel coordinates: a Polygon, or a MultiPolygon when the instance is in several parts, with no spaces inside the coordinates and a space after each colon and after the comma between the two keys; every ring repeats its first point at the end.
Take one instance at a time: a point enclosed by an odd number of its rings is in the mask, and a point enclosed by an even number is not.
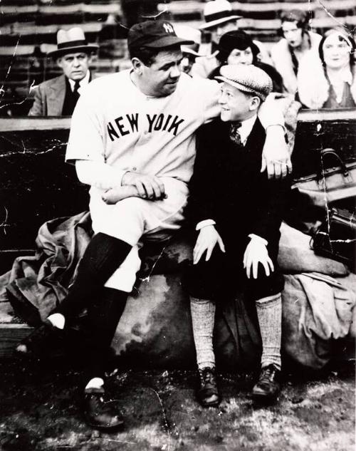
{"type": "MultiPolygon", "coordinates": [[[[157,11],[167,10],[167,18],[174,23],[198,28],[204,22],[205,3],[165,0],[157,4],[157,11]]],[[[310,24],[320,33],[337,25],[350,29],[356,26],[356,0],[241,0],[231,1],[231,5],[235,14],[243,16],[239,27],[267,44],[278,40],[278,17],[291,9],[310,11],[310,24]]],[[[2,0],[0,21],[1,116],[26,115],[33,83],[60,73],[56,64],[46,58],[46,53],[56,48],[59,28],[78,25],[88,42],[99,44],[95,72],[106,74],[128,67],[126,32],[118,25],[125,23],[119,0],[2,0]]]]}

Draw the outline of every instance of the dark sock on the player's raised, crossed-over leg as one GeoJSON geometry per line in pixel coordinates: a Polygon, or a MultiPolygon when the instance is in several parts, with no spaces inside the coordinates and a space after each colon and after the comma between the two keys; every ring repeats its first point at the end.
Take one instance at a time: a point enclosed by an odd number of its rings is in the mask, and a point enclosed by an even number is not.
{"type": "Polygon", "coordinates": [[[121,239],[95,234],[85,249],[68,296],[53,313],[61,313],[66,319],[73,318],[88,307],[131,249],[132,246],[121,239]]]}

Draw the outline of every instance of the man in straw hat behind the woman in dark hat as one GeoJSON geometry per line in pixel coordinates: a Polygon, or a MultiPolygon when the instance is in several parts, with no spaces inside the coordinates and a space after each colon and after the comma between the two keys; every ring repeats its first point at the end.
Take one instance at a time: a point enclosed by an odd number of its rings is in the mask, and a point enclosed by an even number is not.
{"type": "MultiPolygon", "coordinates": [[[[216,58],[219,53],[219,40],[224,33],[238,28],[237,20],[241,19],[241,16],[233,14],[232,6],[228,0],[211,0],[205,5],[204,19],[205,24],[201,25],[199,29],[211,34],[211,43],[206,48],[207,56],[197,58],[192,68],[192,76],[201,78],[207,78],[209,73],[219,66],[219,61],[216,58]]],[[[263,44],[259,41],[253,41],[253,43],[258,48],[258,61],[271,63],[263,44]]]]}

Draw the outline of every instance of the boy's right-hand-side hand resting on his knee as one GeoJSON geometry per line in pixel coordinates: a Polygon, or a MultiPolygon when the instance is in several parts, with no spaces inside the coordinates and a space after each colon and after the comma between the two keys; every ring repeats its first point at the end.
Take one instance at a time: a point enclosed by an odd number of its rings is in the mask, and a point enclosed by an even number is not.
{"type": "Polygon", "coordinates": [[[261,239],[251,238],[244,254],[244,268],[246,269],[248,279],[251,279],[251,269],[253,279],[257,279],[258,264],[260,263],[265,269],[266,276],[269,276],[274,271],[273,262],[268,256],[266,244],[261,239]]]}

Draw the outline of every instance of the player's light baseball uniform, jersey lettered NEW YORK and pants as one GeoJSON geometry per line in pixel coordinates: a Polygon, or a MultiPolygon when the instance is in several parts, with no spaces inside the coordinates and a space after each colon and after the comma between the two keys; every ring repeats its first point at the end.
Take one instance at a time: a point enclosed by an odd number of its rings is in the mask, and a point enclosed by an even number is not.
{"type": "Polygon", "coordinates": [[[139,240],[167,237],[179,229],[187,203],[195,158],[195,131],[219,115],[219,85],[194,81],[182,73],[171,95],[151,98],[131,81],[130,71],[98,78],[75,107],[66,161],[105,162],[119,179],[129,170],[162,177],[166,199],[152,202],[131,197],[105,204],[91,187],[90,214],[95,233],[132,244],[132,250],[105,286],[130,292],[140,268],[139,240]],[[138,244],[137,244],[138,243],[138,244]]]}

